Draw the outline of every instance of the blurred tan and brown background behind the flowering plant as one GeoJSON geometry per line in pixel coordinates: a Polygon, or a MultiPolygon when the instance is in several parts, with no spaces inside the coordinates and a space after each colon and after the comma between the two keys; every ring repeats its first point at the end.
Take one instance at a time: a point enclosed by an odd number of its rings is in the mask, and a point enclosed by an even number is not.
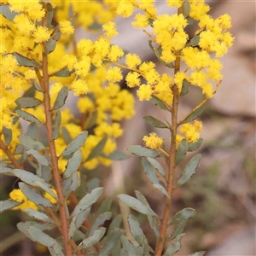
{"type": "MultiPolygon", "coordinates": [[[[160,13],[166,13],[165,1],[156,1],[160,13]]],[[[256,255],[255,251],[255,2],[212,1],[210,14],[213,18],[228,13],[232,18],[231,33],[236,37],[234,46],[221,61],[224,64],[224,80],[201,115],[204,143],[195,154],[201,153],[201,166],[197,173],[173,195],[172,215],[184,207],[195,208],[197,214],[189,219],[183,237],[183,247],[177,255],[189,255],[206,250],[207,256],[256,255]]],[[[137,53],[143,61],[154,61],[148,38],[141,30],[131,27],[131,20],[117,18],[119,36],[114,44],[137,53]]],[[[193,28],[192,28],[193,29],[193,28]]],[[[79,30],[77,37],[97,38],[79,30]]],[[[161,73],[170,72],[159,66],[161,73]]],[[[125,84],[124,84],[125,87],[125,84]]],[[[69,100],[73,105],[73,100],[69,100]]],[[[199,90],[191,90],[180,103],[179,117],[201,102],[199,90]]],[[[170,118],[148,102],[138,102],[136,115],[125,122],[125,134],[118,140],[119,149],[128,154],[126,148],[143,144],[143,136],[153,131],[143,120],[144,115],[158,119],[170,118]]],[[[155,130],[168,140],[166,131],[155,130]]],[[[194,154],[194,153],[193,153],[194,154]]],[[[193,156],[188,155],[188,159],[193,156]]],[[[177,177],[181,170],[177,170],[177,177]]],[[[110,169],[101,167],[91,177],[98,177],[106,187],[106,194],[113,197],[124,192],[134,195],[139,190],[146,196],[155,212],[162,214],[164,197],[153,188],[143,174],[141,160],[131,155],[129,160],[114,162],[110,169]],[[103,171],[102,171],[103,170],[103,171]]],[[[15,180],[1,177],[1,199],[6,199],[15,180]]],[[[116,199],[114,199],[116,201],[116,199]]],[[[117,202],[117,201],[116,201],[117,202]]],[[[119,210],[116,210],[117,212],[119,210]]],[[[21,212],[4,212],[1,220],[1,255],[48,255],[32,242],[21,236],[15,224],[24,220],[21,212]]],[[[148,241],[154,241],[146,219],[141,219],[148,241]],[[144,222],[145,220],[145,222],[144,222]],[[152,236],[152,237],[151,237],[152,236]]]]}

